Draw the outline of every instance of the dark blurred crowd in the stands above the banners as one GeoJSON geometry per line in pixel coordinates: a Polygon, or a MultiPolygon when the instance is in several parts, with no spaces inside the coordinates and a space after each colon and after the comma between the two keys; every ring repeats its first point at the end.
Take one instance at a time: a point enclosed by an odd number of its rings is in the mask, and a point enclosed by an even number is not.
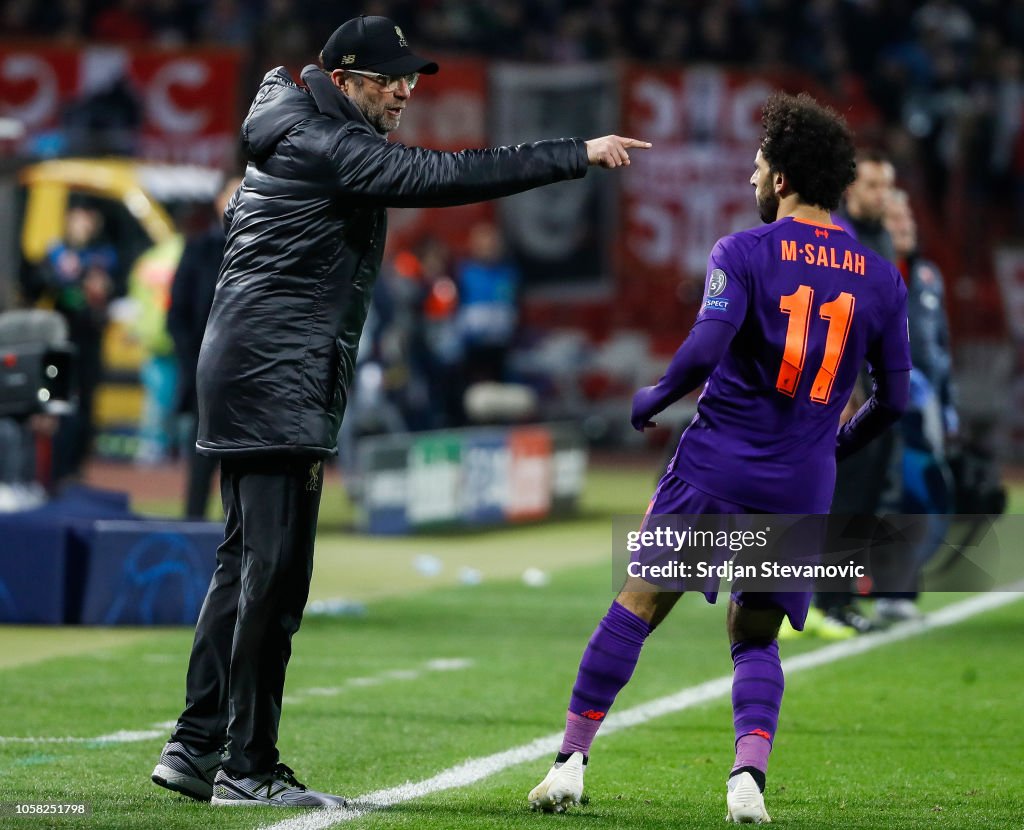
{"type": "MultiPolygon", "coordinates": [[[[250,75],[301,67],[336,8],[309,0],[62,0],[0,4],[8,38],[231,45],[250,75]]],[[[840,100],[866,96],[897,158],[916,148],[941,205],[971,171],[984,221],[1021,232],[1024,2],[1021,0],[370,0],[425,52],[544,62],[630,59],[793,68],[840,100]]]]}

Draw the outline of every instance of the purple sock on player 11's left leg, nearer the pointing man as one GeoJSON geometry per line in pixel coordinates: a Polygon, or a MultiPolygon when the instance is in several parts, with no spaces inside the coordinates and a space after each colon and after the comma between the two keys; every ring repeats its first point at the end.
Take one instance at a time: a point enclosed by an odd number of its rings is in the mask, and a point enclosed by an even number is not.
{"type": "Polygon", "coordinates": [[[640,649],[649,634],[649,623],[618,603],[611,604],[580,661],[565,717],[563,753],[590,752],[615,695],[633,676],[640,649]]]}

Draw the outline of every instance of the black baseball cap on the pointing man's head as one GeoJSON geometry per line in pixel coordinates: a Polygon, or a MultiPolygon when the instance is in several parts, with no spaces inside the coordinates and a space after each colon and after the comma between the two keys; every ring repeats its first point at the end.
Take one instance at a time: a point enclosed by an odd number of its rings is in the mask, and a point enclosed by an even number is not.
{"type": "Polygon", "coordinates": [[[328,38],[322,52],[324,69],[367,70],[381,75],[434,75],[437,64],[413,54],[406,36],[387,17],[353,17],[328,38]]]}

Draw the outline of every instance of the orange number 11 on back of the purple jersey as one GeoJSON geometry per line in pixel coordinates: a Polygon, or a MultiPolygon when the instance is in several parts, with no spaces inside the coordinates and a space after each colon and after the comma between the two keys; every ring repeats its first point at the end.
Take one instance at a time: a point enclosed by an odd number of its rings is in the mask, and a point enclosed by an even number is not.
{"type": "MultiPolygon", "coordinates": [[[[844,291],[831,302],[822,303],[818,309],[818,316],[828,321],[828,332],[825,335],[825,353],[821,366],[811,385],[811,400],[815,403],[827,403],[831,395],[833,383],[836,381],[839,362],[843,359],[846,339],[850,334],[850,323],[853,321],[854,303],[854,296],[844,291]]],[[[778,309],[790,318],[790,324],[785,332],[782,365],[778,369],[775,388],[791,398],[797,394],[800,376],[804,372],[813,304],[814,289],[810,286],[800,286],[793,294],[786,294],[778,301],[778,309]]]]}

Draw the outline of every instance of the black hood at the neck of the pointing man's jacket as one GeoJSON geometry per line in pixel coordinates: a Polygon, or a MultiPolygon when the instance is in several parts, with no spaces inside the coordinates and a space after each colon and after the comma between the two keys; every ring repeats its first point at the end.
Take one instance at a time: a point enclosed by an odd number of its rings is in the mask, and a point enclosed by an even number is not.
{"type": "Polygon", "coordinates": [[[307,92],[284,67],[268,72],[242,123],[242,148],[258,162],[269,157],[296,124],[316,115],[367,124],[359,108],[343,95],[317,67],[302,71],[307,92]]]}

